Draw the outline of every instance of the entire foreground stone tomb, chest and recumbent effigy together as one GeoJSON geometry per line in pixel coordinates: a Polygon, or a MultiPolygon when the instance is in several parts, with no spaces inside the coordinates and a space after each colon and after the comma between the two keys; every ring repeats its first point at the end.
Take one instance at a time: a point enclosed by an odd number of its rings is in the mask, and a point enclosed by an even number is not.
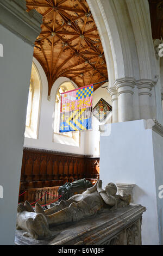
{"type": "Polygon", "coordinates": [[[115,184],[109,183],[103,190],[99,180],[82,194],[62,200],[45,211],[38,203],[35,212],[27,202],[19,205],[16,244],[140,245],[141,216],[145,208],[129,205],[130,196],[122,197],[116,192],[115,184]],[[43,229],[46,232],[42,233],[43,229]],[[30,238],[22,238],[24,234],[30,238]],[[39,239],[44,241],[39,242],[39,239]]]}

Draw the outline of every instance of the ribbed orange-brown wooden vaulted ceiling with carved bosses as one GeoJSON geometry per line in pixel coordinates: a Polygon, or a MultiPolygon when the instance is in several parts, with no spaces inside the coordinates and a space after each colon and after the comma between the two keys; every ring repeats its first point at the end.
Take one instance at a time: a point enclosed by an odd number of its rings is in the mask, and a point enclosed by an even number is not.
{"type": "Polygon", "coordinates": [[[61,76],[70,78],[78,87],[108,79],[102,43],[85,0],[26,2],[27,11],[35,8],[43,16],[34,57],[46,73],[48,95],[61,76]]]}

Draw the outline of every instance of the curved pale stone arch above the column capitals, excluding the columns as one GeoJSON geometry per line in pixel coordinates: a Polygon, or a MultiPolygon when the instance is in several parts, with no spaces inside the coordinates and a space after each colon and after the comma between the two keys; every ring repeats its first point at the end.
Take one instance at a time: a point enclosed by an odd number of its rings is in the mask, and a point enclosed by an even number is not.
{"type": "Polygon", "coordinates": [[[122,77],[153,80],[156,69],[148,1],[87,0],[87,3],[101,36],[109,87],[122,77]]]}

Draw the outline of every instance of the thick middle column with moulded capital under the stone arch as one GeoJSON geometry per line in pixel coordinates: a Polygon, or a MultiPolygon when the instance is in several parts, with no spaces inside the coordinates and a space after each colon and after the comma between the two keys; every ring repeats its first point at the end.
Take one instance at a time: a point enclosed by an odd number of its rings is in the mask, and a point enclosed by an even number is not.
{"type": "Polygon", "coordinates": [[[133,88],[135,80],[131,77],[118,79],[114,83],[118,94],[118,120],[119,122],[131,121],[133,117],[133,88]]]}

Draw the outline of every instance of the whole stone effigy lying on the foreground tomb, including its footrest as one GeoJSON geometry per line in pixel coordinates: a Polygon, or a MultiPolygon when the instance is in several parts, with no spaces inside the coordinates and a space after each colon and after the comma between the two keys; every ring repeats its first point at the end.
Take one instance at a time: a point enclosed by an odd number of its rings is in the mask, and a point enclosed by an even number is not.
{"type": "MultiPolygon", "coordinates": [[[[102,189],[102,181],[98,180],[93,187],[87,188],[82,194],[76,194],[70,199],[61,200],[58,205],[43,210],[39,203],[35,204],[35,212],[29,202],[18,205],[17,229],[27,232],[26,236],[43,239],[55,235],[48,227],[67,222],[78,222],[82,218],[97,214],[103,208],[116,209],[129,205],[130,196],[116,195],[114,183],[102,189]]],[[[57,233],[56,233],[57,234],[57,233]]]]}

